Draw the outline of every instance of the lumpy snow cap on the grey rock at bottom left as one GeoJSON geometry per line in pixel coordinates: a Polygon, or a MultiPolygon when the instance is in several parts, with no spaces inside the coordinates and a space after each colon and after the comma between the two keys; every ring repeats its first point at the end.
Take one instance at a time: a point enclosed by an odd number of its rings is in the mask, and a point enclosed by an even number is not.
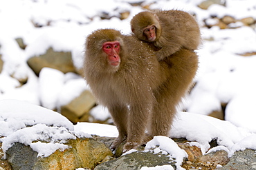
{"type": "Polygon", "coordinates": [[[34,151],[37,151],[37,157],[50,156],[57,149],[64,151],[68,145],[62,144],[67,139],[75,139],[75,136],[68,133],[63,127],[48,127],[43,124],[37,124],[33,127],[26,127],[10,134],[3,139],[3,151],[7,151],[15,142],[23,143],[30,146],[34,151]],[[59,142],[58,140],[61,141],[59,142]],[[43,140],[46,142],[33,142],[35,140],[43,140]]]}

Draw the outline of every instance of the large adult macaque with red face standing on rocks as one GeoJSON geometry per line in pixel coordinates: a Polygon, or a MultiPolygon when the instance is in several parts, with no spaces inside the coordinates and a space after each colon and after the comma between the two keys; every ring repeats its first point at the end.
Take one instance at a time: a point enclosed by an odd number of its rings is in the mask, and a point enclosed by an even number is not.
{"type": "Polygon", "coordinates": [[[176,105],[198,67],[196,54],[182,48],[158,61],[147,43],[112,29],[96,30],[85,46],[84,78],[119,132],[111,149],[125,142],[125,152],[169,136],[176,105]]]}

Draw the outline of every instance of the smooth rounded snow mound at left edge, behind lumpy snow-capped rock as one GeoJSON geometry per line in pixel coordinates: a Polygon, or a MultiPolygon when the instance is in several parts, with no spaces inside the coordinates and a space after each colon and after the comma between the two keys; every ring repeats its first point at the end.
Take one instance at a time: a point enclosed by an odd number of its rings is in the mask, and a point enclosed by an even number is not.
{"type": "Polygon", "coordinates": [[[65,127],[69,130],[74,129],[73,124],[61,114],[19,100],[0,100],[0,113],[1,136],[8,136],[8,133],[11,134],[22,127],[33,126],[38,123],[48,126],[65,127]],[[18,127],[12,131],[11,127],[16,125],[18,127]],[[2,127],[6,127],[6,131],[2,127]]]}

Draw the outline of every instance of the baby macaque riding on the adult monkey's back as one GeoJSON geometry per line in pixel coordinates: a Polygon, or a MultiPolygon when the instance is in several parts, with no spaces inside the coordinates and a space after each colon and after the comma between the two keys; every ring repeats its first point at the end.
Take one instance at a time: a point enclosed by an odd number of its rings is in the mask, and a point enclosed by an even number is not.
{"type": "Polygon", "coordinates": [[[181,10],[140,12],[131,19],[131,31],[158,49],[158,61],[181,48],[196,50],[201,43],[199,25],[188,12],[181,10]]]}

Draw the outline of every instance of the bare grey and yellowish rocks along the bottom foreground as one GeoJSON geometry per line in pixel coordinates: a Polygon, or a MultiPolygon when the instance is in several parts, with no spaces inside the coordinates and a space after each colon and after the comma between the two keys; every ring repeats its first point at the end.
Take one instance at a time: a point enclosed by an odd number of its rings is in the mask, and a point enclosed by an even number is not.
{"type": "MultiPolygon", "coordinates": [[[[186,144],[185,139],[174,139],[181,149],[188,154],[183,160],[182,167],[194,169],[254,169],[255,151],[246,149],[237,151],[231,158],[224,150],[214,151],[203,155],[199,147],[186,144]]],[[[56,151],[46,158],[38,158],[37,152],[30,147],[17,143],[8,149],[8,160],[2,160],[0,168],[8,169],[140,169],[142,167],[156,167],[169,165],[176,169],[175,159],[169,153],[154,153],[154,149],[141,147],[136,152],[121,157],[113,156],[108,149],[113,138],[94,136],[93,138],[69,141],[71,149],[56,151]],[[104,145],[105,144],[105,145],[104,145]],[[106,147],[107,146],[107,147],[106,147]],[[77,150],[76,150],[77,149],[77,150]],[[77,153],[75,152],[77,151],[77,153]]],[[[214,141],[212,142],[214,145],[214,141]]],[[[214,146],[212,146],[214,147],[214,146]]],[[[1,152],[0,152],[1,153],[1,152]]],[[[1,153],[3,155],[3,153],[1,153]]],[[[163,167],[162,167],[163,168],[163,167]]],[[[169,167],[169,169],[171,169],[169,167]]]]}

